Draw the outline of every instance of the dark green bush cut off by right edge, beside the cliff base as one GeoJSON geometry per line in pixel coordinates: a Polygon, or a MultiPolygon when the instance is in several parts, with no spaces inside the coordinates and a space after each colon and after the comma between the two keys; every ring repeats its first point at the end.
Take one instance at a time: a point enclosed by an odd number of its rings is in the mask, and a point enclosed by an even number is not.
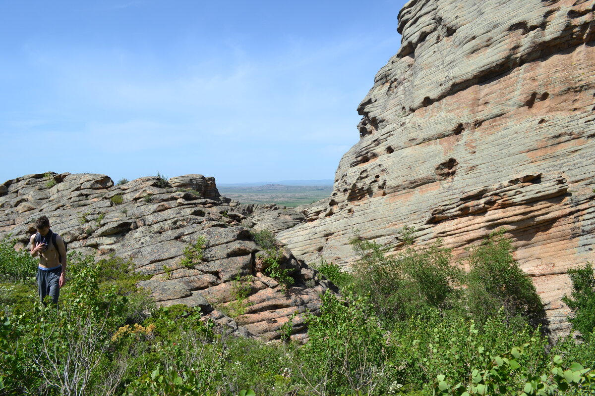
{"type": "Polygon", "coordinates": [[[593,264],[587,263],[582,268],[568,270],[572,281],[572,293],[562,297],[574,317],[570,319],[572,330],[579,331],[587,338],[595,329],[595,277],[593,264]]]}

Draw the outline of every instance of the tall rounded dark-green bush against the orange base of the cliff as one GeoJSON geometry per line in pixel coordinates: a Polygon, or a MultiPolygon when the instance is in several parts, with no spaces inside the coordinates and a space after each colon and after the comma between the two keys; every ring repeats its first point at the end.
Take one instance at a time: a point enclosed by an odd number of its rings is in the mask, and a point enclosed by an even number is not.
{"type": "Polygon", "coordinates": [[[478,322],[504,307],[510,321],[544,322],[541,300],[531,279],[518,267],[504,230],[491,233],[480,245],[469,248],[466,277],[468,310],[478,322]],[[526,318],[526,319],[524,319],[526,318]]]}

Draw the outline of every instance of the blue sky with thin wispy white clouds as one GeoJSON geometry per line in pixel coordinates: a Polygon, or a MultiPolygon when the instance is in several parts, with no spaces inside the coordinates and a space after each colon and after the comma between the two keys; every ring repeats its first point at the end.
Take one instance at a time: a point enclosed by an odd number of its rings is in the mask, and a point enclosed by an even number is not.
{"type": "Polygon", "coordinates": [[[0,183],[333,179],[405,1],[7,1],[0,183]]]}

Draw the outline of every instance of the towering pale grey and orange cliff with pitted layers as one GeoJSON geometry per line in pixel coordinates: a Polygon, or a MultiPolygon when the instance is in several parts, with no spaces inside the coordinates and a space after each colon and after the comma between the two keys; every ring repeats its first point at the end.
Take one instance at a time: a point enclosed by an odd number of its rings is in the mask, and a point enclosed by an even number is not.
{"type": "Polygon", "coordinates": [[[505,227],[550,327],[567,330],[566,271],[595,260],[594,7],[409,1],[331,198],[297,208],[306,220],[277,237],[308,262],[348,267],[354,230],[397,243],[415,226],[459,258],[505,227]]]}

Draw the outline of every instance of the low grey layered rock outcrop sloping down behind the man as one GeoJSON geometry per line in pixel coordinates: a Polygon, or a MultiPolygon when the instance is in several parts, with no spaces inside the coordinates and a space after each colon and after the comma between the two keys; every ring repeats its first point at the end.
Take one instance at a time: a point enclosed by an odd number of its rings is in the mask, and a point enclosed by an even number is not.
{"type": "MultiPolygon", "coordinates": [[[[0,239],[11,233],[25,247],[36,218],[45,214],[69,251],[130,258],[136,271],[152,275],[140,286],[158,305],[201,306],[221,331],[279,338],[294,312],[319,310],[329,286],[282,246],[280,267],[295,284],[285,290],[260,272],[262,249],[241,225],[245,216],[234,211],[236,204],[218,194],[214,178],[186,175],[164,183],[148,177],[114,186],[105,175],[48,172],[0,187],[0,239]],[[184,249],[200,237],[202,260],[183,265],[184,249]],[[248,295],[240,296],[240,288],[248,295]],[[224,312],[235,312],[234,318],[224,312]]],[[[292,320],[297,340],[307,337],[304,319],[292,320]]]]}

